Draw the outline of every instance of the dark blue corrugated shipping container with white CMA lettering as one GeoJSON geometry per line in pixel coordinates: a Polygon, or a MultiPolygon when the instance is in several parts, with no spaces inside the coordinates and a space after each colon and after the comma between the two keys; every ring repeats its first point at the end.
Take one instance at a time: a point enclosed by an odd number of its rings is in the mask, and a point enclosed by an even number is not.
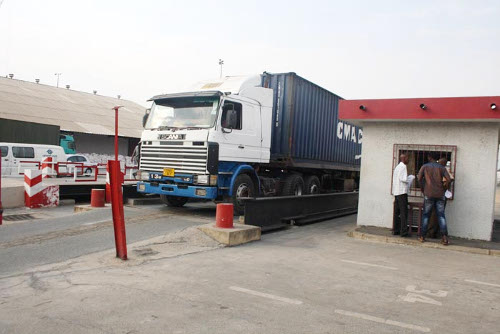
{"type": "Polygon", "coordinates": [[[362,129],[338,120],[341,97],[296,75],[264,73],[274,91],[271,159],[289,166],[357,170],[362,129]]]}

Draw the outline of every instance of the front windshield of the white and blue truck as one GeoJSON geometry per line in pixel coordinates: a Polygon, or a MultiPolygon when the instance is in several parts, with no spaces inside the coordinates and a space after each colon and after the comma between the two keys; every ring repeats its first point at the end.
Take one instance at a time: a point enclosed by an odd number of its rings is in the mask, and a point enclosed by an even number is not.
{"type": "Polygon", "coordinates": [[[211,128],[217,119],[218,97],[182,97],[153,102],[146,129],[211,128]]]}

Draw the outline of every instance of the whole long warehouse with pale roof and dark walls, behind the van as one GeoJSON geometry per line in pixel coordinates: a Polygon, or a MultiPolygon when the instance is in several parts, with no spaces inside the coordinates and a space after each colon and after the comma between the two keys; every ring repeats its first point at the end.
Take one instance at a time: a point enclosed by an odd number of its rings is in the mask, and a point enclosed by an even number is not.
{"type": "Polygon", "coordinates": [[[114,111],[120,105],[119,154],[130,156],[139,142],[145,108],[132,101],[0,78],[0,142],[59,145],[71,134],[76,151],[112,155],[114,111]]]}

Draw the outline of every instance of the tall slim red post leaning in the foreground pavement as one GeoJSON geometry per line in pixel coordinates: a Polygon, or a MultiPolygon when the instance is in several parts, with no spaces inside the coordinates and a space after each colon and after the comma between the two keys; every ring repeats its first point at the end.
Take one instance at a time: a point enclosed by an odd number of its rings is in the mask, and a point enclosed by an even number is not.
{"type": "Polygon", "coordinates": [[[110,160],[109,179],[111,183],[111,211],[113,213],[113,227],[115,230],[116,256],[127,259],[127,238],[125,235],[125,216],[123,214],[123,194],[120,161],[110,160]]]}

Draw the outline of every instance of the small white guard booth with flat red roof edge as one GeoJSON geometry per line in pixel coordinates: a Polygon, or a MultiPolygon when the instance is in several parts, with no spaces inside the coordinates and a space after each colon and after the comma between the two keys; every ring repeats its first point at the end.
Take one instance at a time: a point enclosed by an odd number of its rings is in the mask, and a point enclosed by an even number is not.
{"type": "MultiPolygon", "coordinates": [[[[500,97],[343,100],[339,116],[363,127],[358,225],[392,227],[392,172],[401,153],[416,175],[428,152],[455,178],[446,206],[451,236],[491,240],[500,131],[500,97]]],[[[423,200],[418,182],[409,201],[423,200]]],[[[410,213],[411,214],[411,213],[410,213]]]]}

